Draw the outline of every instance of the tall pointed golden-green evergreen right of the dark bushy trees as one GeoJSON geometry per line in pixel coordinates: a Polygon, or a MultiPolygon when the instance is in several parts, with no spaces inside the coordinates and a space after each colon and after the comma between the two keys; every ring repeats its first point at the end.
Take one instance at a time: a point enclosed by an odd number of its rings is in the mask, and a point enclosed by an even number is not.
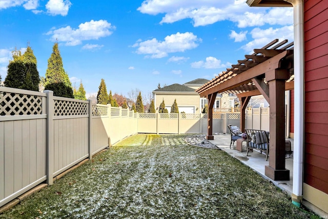
{"type": "Polygon", "coordinates": [[[52,53],[48,59],[45,89],[52,90],[54,96],[74,98],[72,84],[64,70],[58,43],[53,45],[52,53]]]}

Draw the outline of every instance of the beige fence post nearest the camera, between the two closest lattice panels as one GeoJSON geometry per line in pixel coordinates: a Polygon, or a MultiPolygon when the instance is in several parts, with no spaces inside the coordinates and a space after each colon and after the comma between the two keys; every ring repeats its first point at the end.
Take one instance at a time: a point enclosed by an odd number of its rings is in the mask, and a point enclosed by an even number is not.
{"type": "Polygon", "coordinates": [[[53,184],[53,156],[54,156],[54,143],[53,143],[53,115],[54,115],[54,104],[53,104],[53,91],[44,90],[47,94],[47,132],[46,132],[46,173],[47,173],[47,184],[53,184]]]}

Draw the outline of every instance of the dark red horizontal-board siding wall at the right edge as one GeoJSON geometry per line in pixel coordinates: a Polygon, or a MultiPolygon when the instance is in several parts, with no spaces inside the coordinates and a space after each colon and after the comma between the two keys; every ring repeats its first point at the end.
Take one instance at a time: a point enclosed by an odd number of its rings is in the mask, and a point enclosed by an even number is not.
{"type": "Polygon", "coordinates": [[[304,182],[328,194],[327,0],[304,1],[304,51],[304,182]]]}

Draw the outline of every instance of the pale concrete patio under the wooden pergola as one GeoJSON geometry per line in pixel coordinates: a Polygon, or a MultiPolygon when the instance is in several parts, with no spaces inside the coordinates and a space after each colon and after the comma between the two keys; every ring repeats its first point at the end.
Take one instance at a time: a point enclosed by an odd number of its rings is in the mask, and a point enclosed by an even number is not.
{"type": "MultiPolygon", "coordinates": [[[[214,135],[214,140],[210,140],[211,143],[219,147],[221,150],[226,151],[231,156],[238,159],[243,164],[249,166],[254,171],[258,172],[263,178],[270,180],[275,186],[284,190],[289,195],[293,192],[293,158],[285,159],[285,167],[290,170],[290,180],[289,181],[273,181],[271,178],[265,176],[264,167],[265,165],[269,165],[268,161],[265,161],[265,154],[261,154],[257,151],[249,152],[249,155],[246,155],[246,143],[243,143],[242,152],[236,150],[236,142],[234,147],[231,146],[230,149],[230,134],[218,134],[214,135]]],[[[294,141],[292,138],[288,138],[288,140],[292,143],[292,150],[294,149],[294,141]]],[[[270,155],[270,154],[269,154],[270,155]]]]}

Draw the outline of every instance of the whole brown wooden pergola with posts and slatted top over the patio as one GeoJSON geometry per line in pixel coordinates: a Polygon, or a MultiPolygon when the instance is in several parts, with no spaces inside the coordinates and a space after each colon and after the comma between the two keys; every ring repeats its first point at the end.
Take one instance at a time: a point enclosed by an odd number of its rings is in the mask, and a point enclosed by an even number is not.
{"type": "Polygon", "coordinates": [[[238,64],[222,72],[196,90],[208,99],[207,139],[213,140],[213,105],[218,93],[237,94],[240,109],[240,129],[245,129],[245,109],[252,96],[262,94],[270,104],[270,156],[265,175],[273,180],[289,180],[285,169],[285,90],[294,89],[293,43],[275,39],[238,64]]]}

